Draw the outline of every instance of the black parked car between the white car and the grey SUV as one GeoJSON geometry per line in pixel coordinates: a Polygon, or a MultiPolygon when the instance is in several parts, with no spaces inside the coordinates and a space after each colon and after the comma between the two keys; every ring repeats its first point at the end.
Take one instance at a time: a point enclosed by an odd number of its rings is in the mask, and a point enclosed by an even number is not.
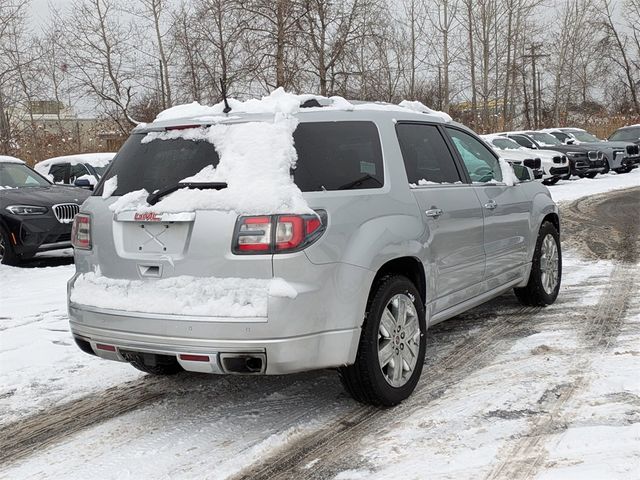
{"type": "Polygon", "coordinates": [[[553,135],[531,130],[504,132],[505,135],[526,148],[562,152],[569,160],[571,175],[593,178],[606,171],[604,154],[596,149],[581,145],[564,145],[553,135]]]}

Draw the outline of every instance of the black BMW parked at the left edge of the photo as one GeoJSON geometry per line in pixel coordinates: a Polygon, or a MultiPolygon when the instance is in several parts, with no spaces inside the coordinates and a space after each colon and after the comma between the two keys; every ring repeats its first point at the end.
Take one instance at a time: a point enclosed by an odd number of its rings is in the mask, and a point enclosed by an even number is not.
{"type": "Polygon", "coordinates": [[[0,263],[71,247],[71,225],[90,192],[53,185],[22,160],[0,156],[0,263]]]}

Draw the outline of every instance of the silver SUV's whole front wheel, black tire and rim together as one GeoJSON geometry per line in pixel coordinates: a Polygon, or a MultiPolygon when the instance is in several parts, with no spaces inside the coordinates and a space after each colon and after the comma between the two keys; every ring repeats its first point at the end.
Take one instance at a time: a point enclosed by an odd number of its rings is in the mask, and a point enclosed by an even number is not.
{"type": "Polygon", "coordinates": [[[523,305],[551,305],[558,298],[561,278],[560,235],[551,222],[544,222],[538,233],[529,282],[514,292],[523,305]]]}

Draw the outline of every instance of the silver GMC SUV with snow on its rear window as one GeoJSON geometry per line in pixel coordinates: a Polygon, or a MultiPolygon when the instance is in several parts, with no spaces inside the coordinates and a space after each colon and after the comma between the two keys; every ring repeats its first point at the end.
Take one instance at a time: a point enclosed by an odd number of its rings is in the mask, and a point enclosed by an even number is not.
{"type": "MultiPolygon", "coordinates": [[[[526,305],[555,301],[558,208],[529,169],[515,166],[514,183],[472,131],[438,115],[312,105],[290,115],[286,172],[307,213],[171,201],[228,189],[260,204],[241,177],[216,177],[242,142],[206,138],[279,114],[134,130],[74,224],[69,317],[83,351],[160,375],[335,368],[356,400],[395,405],[419,381],[430,326],[510,289],[526,305]]],[[[246,141],[266,142],[268,161],[268,140],[246,141]]]]}

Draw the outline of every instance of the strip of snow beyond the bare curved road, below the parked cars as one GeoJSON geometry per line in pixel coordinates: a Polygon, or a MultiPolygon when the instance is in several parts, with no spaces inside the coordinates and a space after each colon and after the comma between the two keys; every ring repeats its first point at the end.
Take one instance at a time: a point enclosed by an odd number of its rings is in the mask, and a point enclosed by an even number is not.
{"type": "Polygon", "coordinates": [[[638,186],[640,186],[640,168],[635,168],[622,175],[611,172],[606,175],[597,175],[595,178],[560,180],[550,186],[549,191],[556,202],[572,202],[598,193],[638,186]]]}

